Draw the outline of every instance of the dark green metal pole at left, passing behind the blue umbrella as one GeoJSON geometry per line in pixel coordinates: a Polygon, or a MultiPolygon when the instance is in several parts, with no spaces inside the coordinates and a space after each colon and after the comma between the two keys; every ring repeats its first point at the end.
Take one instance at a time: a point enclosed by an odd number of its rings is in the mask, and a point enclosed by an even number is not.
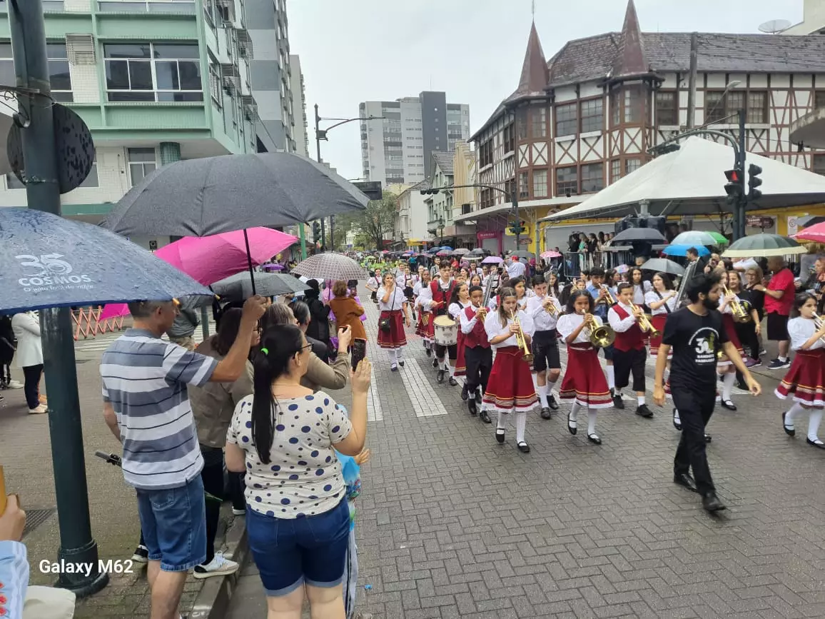
{"type": "MultiPolygon", "coordinates": [[[[21,130],[26,200],[31,209],[60,215],[43,5],[40,0],[12,0],[8,5],[17,85],[39,91],[20,97],[24,121],[29,121],[21,130]]],[[[49,392],[49,435],[60,529],[58,560],[61,565],[90,568],[88,574],[59,574],[57,586],[84,597],[106,587],[109,575],[101,573],[98,565],[97,542],[89,519],[78,373],[68,307],[40,310],[40,339],[49,392]]]]}

